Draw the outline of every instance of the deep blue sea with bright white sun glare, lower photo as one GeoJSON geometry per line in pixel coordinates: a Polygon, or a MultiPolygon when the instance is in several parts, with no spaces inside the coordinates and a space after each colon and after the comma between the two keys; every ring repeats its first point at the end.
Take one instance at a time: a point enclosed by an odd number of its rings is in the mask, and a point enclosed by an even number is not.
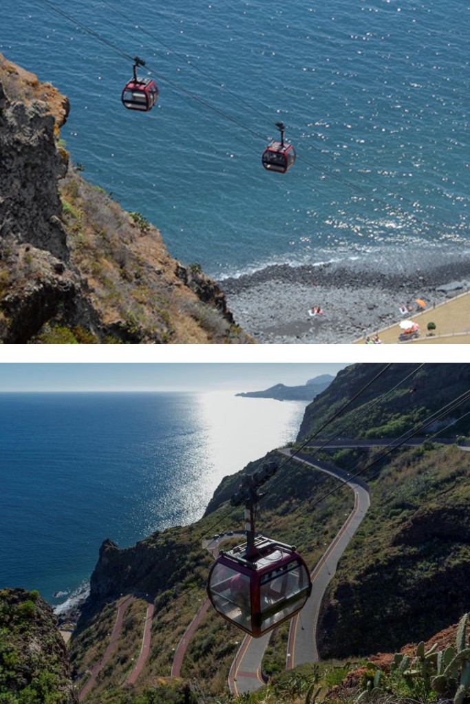
{"type": "Polygon", "coordinates": [[[0,394],[0,589],[70,604],[104,539],[125,547],[197,520],[223,477],[296,438],[305,406],[228,392],[0,394]]]}

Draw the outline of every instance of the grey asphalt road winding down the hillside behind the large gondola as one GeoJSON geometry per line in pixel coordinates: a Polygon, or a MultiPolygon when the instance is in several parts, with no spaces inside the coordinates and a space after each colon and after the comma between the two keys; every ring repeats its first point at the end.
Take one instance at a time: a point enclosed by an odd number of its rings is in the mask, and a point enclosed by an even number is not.
{"type": "MultiPolygon", "coordinates": [[[[291,457],[291,450],[288,448],[279,450],[284,455],[291,457]]],[[[326,549],[318,565],[312,572],[312,595],[307,600],[303,610],[294,617],[291,622],[287,650],[287,669],[299,665],[300,662],[315,662],[318,659],[317,646],[315,643],[315,627],[319,612],[319,606],[324,595],[326,586],[336,571],[338,560],[345,551],[352,535],[364,518],[369,508],[369,491],[367,485],[361,479],[349,478],[347,472],[343,472],[338,467],[327,465],[315,461],[293,458],[314,467],[321,472],[331,474],[350,486],[355,493],[355,506],[338,532],[336,537],[326,549]]],[[[246,636],[239,648],[236,658],[231,665],[228,685],[232,694],[238,695],[245,692],[253,692],[265,684],[262,679],[261,663],[262,657],[269,643],[270,634],[262,638],[251,638],[246,636]]]]}

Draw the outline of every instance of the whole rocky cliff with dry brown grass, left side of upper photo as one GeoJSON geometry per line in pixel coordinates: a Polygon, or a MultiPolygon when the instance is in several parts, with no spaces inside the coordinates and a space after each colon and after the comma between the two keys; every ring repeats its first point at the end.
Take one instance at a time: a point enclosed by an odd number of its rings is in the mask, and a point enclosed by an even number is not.
{"type": "Polygon", "coordinates": [[[82,179],[68,111],[0,54],[0,342],[250,342],[215,282],[82,179]]]}

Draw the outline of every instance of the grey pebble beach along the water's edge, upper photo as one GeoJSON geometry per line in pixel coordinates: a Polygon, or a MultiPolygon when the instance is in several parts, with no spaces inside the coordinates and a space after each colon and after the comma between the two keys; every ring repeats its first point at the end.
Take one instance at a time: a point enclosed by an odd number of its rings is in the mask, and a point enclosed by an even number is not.
{"type": "Polygon", "coordinates": [[[350,344],[401,319],[399,306],[432,308],[470,289],[462,257],[410,272],[381,272],[362,262],[274,265],[220,282],[227,305],[258,344],[350,344]],[[324,315],[310,317],[320,306],[324,315]]]}

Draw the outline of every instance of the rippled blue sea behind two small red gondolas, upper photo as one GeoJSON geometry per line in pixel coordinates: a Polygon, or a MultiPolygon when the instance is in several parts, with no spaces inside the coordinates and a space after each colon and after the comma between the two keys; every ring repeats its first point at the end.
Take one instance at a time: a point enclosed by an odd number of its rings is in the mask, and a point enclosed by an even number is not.
{"type": "Polygon", "coordinates": [[[469,246],[470,6],[460,0],[4,0],[0,51],[66,94],[84,177],[224,278],[443,261],[469,246]],[[160,88],[120,94],[132,57],[160,88]],[[285,175],[261,154],[286,125],[285,175]]]}

